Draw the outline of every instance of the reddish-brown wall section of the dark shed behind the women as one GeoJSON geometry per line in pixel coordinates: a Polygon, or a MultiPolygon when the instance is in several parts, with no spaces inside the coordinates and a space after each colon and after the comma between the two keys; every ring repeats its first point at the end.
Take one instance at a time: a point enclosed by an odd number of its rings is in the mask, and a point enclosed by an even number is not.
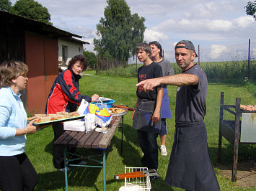
{"type": "Polygon", "coordinates": [[[44,113],[51,85],[58,75],[58,40],[25,33],[27,106],[29,113],[44,113]]]}

